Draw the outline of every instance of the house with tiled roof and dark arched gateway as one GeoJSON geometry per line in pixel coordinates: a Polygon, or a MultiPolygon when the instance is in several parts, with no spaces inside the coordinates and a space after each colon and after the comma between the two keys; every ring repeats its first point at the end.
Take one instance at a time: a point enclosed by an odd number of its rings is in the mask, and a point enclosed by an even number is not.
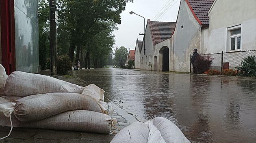
{"type": "Polygon", "coordinates": [[[140,69],[169,71],[170,38],[175,24],[175,22],[159,22],[148,19],[141,46],[140,69]]]}

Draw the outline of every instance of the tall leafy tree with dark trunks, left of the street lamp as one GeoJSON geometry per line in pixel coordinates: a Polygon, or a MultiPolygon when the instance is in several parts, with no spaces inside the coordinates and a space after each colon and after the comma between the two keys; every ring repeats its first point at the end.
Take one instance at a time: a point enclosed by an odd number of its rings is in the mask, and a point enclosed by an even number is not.
{"type": "MultiPolygon", "coordinates": [[[[120,13],[125,10],[127,2],[133,0],[60,0],[59,18],[67,21],[70,31],[69,57],[76,61],[80,51],[88,48],[85,59],[90,57],[90,40],[102,32],[102,21],[121,23],[120,13]]],[[[82,53],[82,52],[81,52],[82,53]]],[[[89,63],[88,61],[86,63],[89,63]]]]}

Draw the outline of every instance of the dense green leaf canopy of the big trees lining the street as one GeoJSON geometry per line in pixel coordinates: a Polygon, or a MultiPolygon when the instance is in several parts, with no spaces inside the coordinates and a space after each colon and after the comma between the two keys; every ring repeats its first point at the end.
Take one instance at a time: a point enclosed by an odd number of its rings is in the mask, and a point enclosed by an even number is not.
{"type": "MultiPolygon", "coordinates": [[[[116,28],[116,23],[121,24],[120,14],[125,10],[127,2],[133,2],[133,0],[58,0],[58,14],[59,14],[59,28],[60,32],[58,36],[58,42],[65,44],[63,46],[58,46],[58,52],[61,53],[63,50],[67,51],[67,45],[69,45],[69,57],[74,59],[74,53],[79,53],[80,51],[75,51],[77,45],[83,45],[82,50],[87,50],[89,53],[94,53],[93,63],[97,64],[95,67],[99,67],[107,63],[105,61],[107,56],[105,56],[105,51],[103,55],[97,56],[96,51],[102,51],[100,44],[94,46],[91,40],[98,39],[103,40],[103,44],[106,41],[110,43],[114,41],[114,36],[110,36],[113,29],[116,28]],[[112,23],[106,24],[106,23],[112,23]],[[62,29],[64,29],[62,31],[62,29]],[[109,30],[110,29],[110,30],[109,30]],[[102,33],[104,30],[108,30],[108,36],[106,33],[102,33]],[[104,36],[107,37],[105,39],[104,36]],[[97,38],[104,37],[104,38],[97,38]],[[69,40],[67,40],[69,38],[69,40]],[[111,38],[111,39],[109,39],[111,38]],[[62,40],[61,40],[62,39],[62,40]],[[88,46],[85,46],[88,45],[88,46]],[[62,49],[61,49],[62,48],[62,49]],[[86,48],[86,49],[83,49],[86,48]],[[101,58],[102,59],[99,59],[101,58]],[[102,61],[103,60],[103,61],[102,61]]],[[[96,43],[100,43],[97,41],[96,43]]],[[[112,44],[113,45],[113,44],[112,44]]],[[[108,45],[108,47],[110,47],[108,45]]],[[[79,48],[77,48],[79,49],[79,48]]],[[[106,50],[110,52],[109,50],[106,50]]],[[[88,60],[89,55],[86,60],[88,60]]],[[[76,57],[77,59],[77,57],[76,57]]]]}

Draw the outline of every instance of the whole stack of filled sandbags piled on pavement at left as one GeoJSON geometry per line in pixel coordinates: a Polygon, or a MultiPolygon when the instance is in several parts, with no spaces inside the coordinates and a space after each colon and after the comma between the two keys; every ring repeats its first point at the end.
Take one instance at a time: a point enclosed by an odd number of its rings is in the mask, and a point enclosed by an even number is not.
{"type": "Polygon", "coordinates": [[[107,134],[116,124],[111,105],[104,102],[104,90],[94,84],[82,87],[21,71],[4,74],[0,73],[0,88],[6,95],[0,99],[0,126],[107,134]]]}

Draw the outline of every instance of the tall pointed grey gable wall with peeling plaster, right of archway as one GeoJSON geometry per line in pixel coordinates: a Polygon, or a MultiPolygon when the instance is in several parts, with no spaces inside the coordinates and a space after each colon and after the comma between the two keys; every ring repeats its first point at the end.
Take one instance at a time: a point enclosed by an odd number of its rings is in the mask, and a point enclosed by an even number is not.
{"type": "Polygon", "coordinates": [[[173,66],[171,71],[190,71],[190,55],[193,49],[197,48],[200,53],[201,46],[201,25],[195,20],[187,3],[182,0],[178,12],[177,23],[174,34],[171,38],[170,60],[173,66]]]}

